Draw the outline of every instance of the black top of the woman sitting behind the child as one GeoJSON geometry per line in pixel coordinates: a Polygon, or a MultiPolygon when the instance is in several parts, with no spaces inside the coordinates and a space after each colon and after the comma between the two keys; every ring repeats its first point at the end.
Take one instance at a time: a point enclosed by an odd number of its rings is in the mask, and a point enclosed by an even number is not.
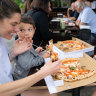
{"type": "Polygon", "coordinates": [[[33,18],[36,26],[33,43],[37,46],[42,45],[42,43],[47,44],[48,41],[52,38],[52,33],[49,31],[47,14],[41,10],[31,10],[26,14],[33,18]]]}

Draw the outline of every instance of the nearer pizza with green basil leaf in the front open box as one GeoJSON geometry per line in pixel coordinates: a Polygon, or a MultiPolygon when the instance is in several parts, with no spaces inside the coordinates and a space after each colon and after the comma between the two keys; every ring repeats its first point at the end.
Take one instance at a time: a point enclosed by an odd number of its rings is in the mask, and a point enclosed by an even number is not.
{"type": "Polygon", "coordinates": [[[81,80],[95,74],[95,70],[88,70],[86,67],[80,67],[76,58],[66,58],[62,60],[60,70],[53,76],[56,79],[62,79],[67,82],[81,80]],[[66,66],[64,65],[66,64],[66,66]]]}

